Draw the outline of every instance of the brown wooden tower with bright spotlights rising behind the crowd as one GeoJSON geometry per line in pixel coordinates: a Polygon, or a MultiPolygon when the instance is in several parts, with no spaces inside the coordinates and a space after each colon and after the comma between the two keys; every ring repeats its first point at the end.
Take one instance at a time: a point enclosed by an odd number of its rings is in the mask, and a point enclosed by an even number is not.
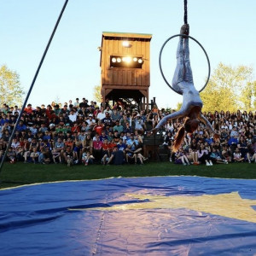
{"type": "Polygon", "coordinates": [[[102,102],[106,99],[148,109],[150,34],[103,32],[102,102]]]}

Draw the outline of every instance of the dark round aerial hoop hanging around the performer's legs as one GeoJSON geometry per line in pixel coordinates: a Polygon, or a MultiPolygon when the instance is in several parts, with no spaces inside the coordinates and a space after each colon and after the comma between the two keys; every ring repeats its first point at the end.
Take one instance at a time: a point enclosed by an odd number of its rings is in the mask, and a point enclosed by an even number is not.
{"type": "Polygon", "coordinates": [[[172,38],[177,38],[177,37],[180,37],[180,36],[187,37],[187,38],[191,38],[192,40],[194,40],[197,44],[199,44],[199,46],[201,47],[201,49],[203,50],[203,52],[205,53],[205,55],[206,55],[206,57],[207,57],[207,63],[208,63],[208,77],[207,77],[207,82],[206,82],[206,84],[204,84],[204,86],[201,88],[201,90],[199,90],[199,92],[201,92],[202,90],[204,90],[204,89],[206,88],[206,86],[207,86],[207,84],[208,84],[208,81],[209,81],[209,79],[210,79],[211,65],[210,65],[210,61],[209,61],[208,55],[207,55],[207,51],[203,48],[203,46],[202,46],[195,38],[192,38],[192,37],[190,37],[190,36],[188,36],[188,35],[183,35],[183,34],[177,34],[177,35],[172,36],[171,38],[168,38],[168,39],[166,40],[166,42],[163,44],[163,46],[161,47],[161,49],[160,49],[160,55],[159,55],[160,73],[161,73],[163,79],[165,80],[166,84],[167,84],[173,91],[175,91],[175,92],[177,92],[178,94],[181,94],[181,95],[182,95],[182,93],[180,93],[179,91],[175,90],[175,89],[172,87],[172,85],[168,83],[168,81],[167,81],[167,79],[166,79],[166,77],[165,77],[165,75],[164,75],[164,73],[163,73],[162,64],[161,64],[162,51],[163,51],[163,49],[165,48],[166,44],[167,44],[170,40],[172,40],[172,38]]]}

